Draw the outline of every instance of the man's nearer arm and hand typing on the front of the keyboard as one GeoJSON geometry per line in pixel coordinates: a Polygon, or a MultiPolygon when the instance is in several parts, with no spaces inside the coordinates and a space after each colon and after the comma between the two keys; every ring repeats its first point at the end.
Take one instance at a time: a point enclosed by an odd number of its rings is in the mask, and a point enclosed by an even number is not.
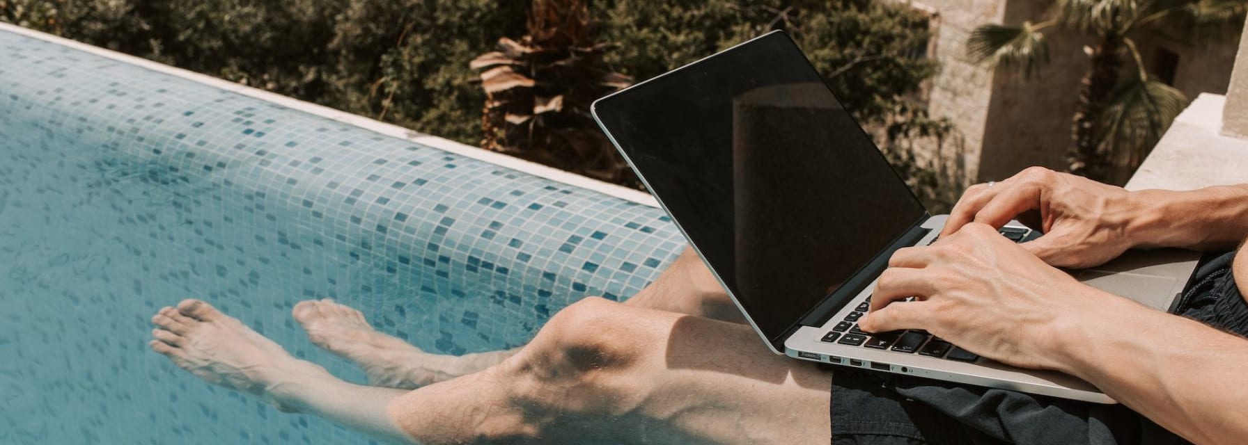
{"type": "Polygon", "coordinates": [[[991,226],[942,239],[894,254],[864,330],[926,329],[997,361],[1080,376],[1196,443],[1248,438],[1248,340],[1082,284],[991,226]]]}

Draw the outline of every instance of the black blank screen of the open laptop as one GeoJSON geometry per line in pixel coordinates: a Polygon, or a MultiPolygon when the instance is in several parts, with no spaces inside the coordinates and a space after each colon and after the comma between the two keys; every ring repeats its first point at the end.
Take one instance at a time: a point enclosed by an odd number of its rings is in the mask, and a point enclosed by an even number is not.
{"type": "Polygon", "coordinates": [[[594,110],[773,343],[926,214],[781,32],[594,110]]]}

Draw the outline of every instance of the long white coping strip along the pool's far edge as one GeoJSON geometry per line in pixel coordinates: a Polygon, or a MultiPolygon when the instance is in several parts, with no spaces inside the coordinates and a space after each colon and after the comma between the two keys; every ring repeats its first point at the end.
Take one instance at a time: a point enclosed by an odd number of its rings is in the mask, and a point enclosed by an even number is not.
{"type": "Polygon", "coordinates": [[[127,54],[112,51],[109,49],[102,49],[94,45],[87,45],[80,41],[54,36],[42,31],[35,31],[31,29],[21,27],[12,24],[0,22],[0,31],[12,32],[16,35],[42,40],[51,44],[62,45],[79,50],[82,52],[92,54],[105,59],[115,60],[124,64],[135,65],[150,71],[161,72],[165,75],[175,76],[178,79],[185,79],[196,84],[207,85],[218,90],[225,90],[243,96],[258,98],[266,102],[276,103],[292,110],[298,110],[313,116],[319,116],[336,122],[342,122],[346,125],[364,128],[376,133],[381,133],[389,137],[401,138],[404,141],[411,141],[427,147],[442,150],[446,152],[456,153],[459,156],[474,158],[483,162],[489,162],[492,165],[512,168],[528,175],[538,176],[550,181],[560,182],[568,186],[580,187],[590,189],[598,193],[613,196],[620,199],[635,202],[644,206],[659,207],[658,201],[654,199],[646,192],[628,188],[624,186],[617,186],[613,183],[598,181],[585,176],[565,172],[558,168],[547,167],[537,162],[520,160],[513,156],[492,152],[480,147],[469,146],[466,143],[459,143],[452,140],[426,135],[414,130],[404,128],[393,123],[381,122],[369,117],[349,113],[341,110],[334,110],[323,105],[316,105],[307,101],[301,101],[293,97],[282,96],[276,92],[268,92],[256,87],[235,84],[227,80],[212,77],[210,75],[198,74],[195,71],[155,62],[147,59],[131,56],[127,54]]]}

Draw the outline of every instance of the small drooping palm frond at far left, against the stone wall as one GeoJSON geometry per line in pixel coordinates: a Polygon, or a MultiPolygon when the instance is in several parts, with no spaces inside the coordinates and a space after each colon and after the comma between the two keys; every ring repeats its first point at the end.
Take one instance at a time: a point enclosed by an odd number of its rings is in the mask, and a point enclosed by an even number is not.
{"type": "Polygon", "coordinates": [[[1031,22],[1022,26],[990,24],[971,32],[966,55],[976,64],[1012,67],[1030,77],[1048,64],[1048,41],[1031,22]]]}

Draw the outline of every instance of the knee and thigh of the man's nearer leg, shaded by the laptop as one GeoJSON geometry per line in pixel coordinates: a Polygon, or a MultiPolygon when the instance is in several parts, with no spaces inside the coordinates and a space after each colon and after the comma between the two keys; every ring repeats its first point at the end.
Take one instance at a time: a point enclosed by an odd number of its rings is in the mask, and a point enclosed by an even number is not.
{"type": "Polygon", "coordinates": [[[529,403],[565,409],[615,440],[830,438],[831,373],[771,353],[743,324],[588,299],[553,318],[525,349],[519,361],[553,368],[545,379],[520,380],[530,383],[529,403]]]}

